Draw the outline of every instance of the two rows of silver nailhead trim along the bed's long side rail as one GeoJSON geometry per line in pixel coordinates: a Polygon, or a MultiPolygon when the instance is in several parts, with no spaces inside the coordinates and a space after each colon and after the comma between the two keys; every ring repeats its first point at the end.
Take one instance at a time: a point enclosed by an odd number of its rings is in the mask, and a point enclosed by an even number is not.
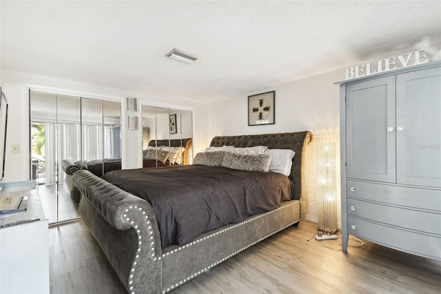
{"type": "MultiPolygon", "coordinates": [[[[296,202],[293,202],[293,203],[288,204],[288,205],[283,206],[283,207],[276,208],[275,210],[271,210],[271,211],[269,211],[269,212],[267,212],[267,213],[264,213],[263,215],[258,215],[258,216],[256,216],[256,217],[252,217],[251,219],[248,219],[248,220],[245,221],[245,222],[241,222],[240,224],[235,224],[235,225],[230,226],[230,227],[228,227],[228,228],[225,228],[225,229],[223,229],[223,230],[221,230],[221,231],[218,231],[218,232],[216,232],[216,233],[213,233],[213,234],[211,234],[211,235],[208,235],[208,236],[206,236],[206,237],[203,237],[202,239],[198,239],[198,240],[196,240],[196,241],[194,241],[194,242],[191,242],[191,243],[189,243],[189,244],[185,244],[185,245],[183,245],[183,246],[181,246],[181,247],[179,247],[179,248],[174,249],[173,251],[170,251],[170,252],[167,252],[167,253],[163,254],[162,256],[163,256],[163,257],[167,257],[168,255],[172,255],[173,253],[176,253],[176,252],[178,252],[178,251],[181,251],[181,250],[184,249],[184,248],[188,248],[189,246],[192,246],[192,245],[194,245],[194,244],[196,244],[196,243],[203,242],[205,239],[209,239],[210,237],[213,237],[214,235],[219,235],[220,233],[224,233],[224,232],[226,232],[226,231],[229,231],[229,230],[231,230],[232,228],[236,228],[236,227],[238,227],[238,226],[242,226],[243,224],[247,224],[248,222],[252,222],[252,221],[254,221],[255,219],[258,219],[258,218],[260,218],[260,217],[264,217],[265,215],[269,215],[270,213],[274,213],[274,212],[277,211],[277,210],[280,210],[280,209],[283,209],[283,208],[287,208],[287,207],[289,207],[289,206],[291,206],[291,205],[294,205],[294,204],[296,204],[296,202]]],[[[296,222],[299,222],[299,221],[300,221],[300,220],[296,220],[296,222]]],[[[172,291],[172,290],[173,290],[174,288],[176,288],[177,286],[181,286],[181,284],[183,284],[183,283],[185,283],[185,282],[187,282],[187,281],[189,281],[189,280],[192,280],[194,277],[196,277],[196,276],[198,276],[198,275],[201,275],[201,273],[205,273],[205,272],[208,271],[210,268],[212,268],[212,267],[214,267],[214,266],[220,264],[221,262],[225,262],[225,260],[227,260],[227,259],[229,259],[230,257],[232,257],[232,256],[234,256],[234,255],[240,253],[241,251],[244,251],[245,249],[247,249],[247,248],[249,248],[249,247],[251,247],[251,246],[257,244],[258,242],[262,241],[263,239],[266,239],[267,237],[270,237],[271,235],[274,235],[274,234],[276,234],[276,233],[282,231],[283,229],[287,228],[288,226],[292,226],[293,224],[296,224],[296,222],[291,222],[290,224],[287,224],[287,225],[284,226],[283,228],[279,228],[278,230],[276,230],[276,231],[274,231],[274,232],[272,232],[272,233],[269,233],[268,235],[265,235],[265,237],[261,237],[261,238],[258,239],[257,241],[254,241],[254,242],[252,242],[251,244],[248,244],[247,246],[244,246],[243,248],[240,248],[238,251],[235,251],[234,253],[232,253],[232,254],[230,254],[230,255],[227,255],[227,257],[224,257],[223,259],[220,259],[218,262],[214,262],[214,264],[211,264],[210,266],[207,266],[206,268],[201,269],[201,271],[197,271],[196,273],[194,273],[193,275],[190,275],[189,277],[185,278],[184,280],[182,280],[182,281],[180,281],[180,282],[178,282],[178,283],[176,283],[176,284],[174,284],[174,285],[168,287],[167,289],[163,290],[162,293],[167,293],[167,292],[169,292],[169,291],[172,291]]],[[[159,257],[159,259],[161,259],[161,257],[159,257]]],[[[156,260],[156,258],[155,258],[155,260],[156,260]]]]}

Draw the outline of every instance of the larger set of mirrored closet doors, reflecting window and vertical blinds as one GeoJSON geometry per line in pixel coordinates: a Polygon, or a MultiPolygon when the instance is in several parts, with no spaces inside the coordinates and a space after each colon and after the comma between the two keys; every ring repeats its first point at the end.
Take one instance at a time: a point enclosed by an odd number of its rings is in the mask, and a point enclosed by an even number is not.
{"type": "Polygon", "coordinates": [[[106,160],[121,166],[121,103],[30,91],[30,125],[30,178],[49,223],[79,218],[63,166],[94,164],[101,174],[106,160]]]}

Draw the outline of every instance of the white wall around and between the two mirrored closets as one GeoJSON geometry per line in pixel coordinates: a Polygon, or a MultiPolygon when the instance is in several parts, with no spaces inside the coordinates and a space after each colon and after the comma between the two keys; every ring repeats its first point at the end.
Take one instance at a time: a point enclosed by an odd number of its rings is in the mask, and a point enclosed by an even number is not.
{"type": "Polygon", "coordinates": [[[130,115],[138,115],[140,125],[141,105],[183,110],[194,109],[187,101],[173,99],[172,97],[161,97],[147,92],[108,88],[9,70],[1,70],[1,84],[9,104],[5,182],[19,182],[30,179],[29,88],[63,95],[120,101],[123,128],[123,168],[139,168],[142,164],[142,128],[127,130],[127,115],[129,113],[127,112],[125,97],[137,97],[139,99],[139,111],[130,112],[130,115]],[[20,153],[11,153],[12,144],[19,144],[20,153]]]}

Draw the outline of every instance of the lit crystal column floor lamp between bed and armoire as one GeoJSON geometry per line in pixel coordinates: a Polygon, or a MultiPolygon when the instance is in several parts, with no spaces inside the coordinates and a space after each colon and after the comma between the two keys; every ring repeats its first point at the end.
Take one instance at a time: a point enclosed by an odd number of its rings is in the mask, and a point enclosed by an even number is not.
{"type": "Polygon", "coordinates": [[[318,231],[335,234],[337,228],[336,143],[317,142],[318,231]]]}

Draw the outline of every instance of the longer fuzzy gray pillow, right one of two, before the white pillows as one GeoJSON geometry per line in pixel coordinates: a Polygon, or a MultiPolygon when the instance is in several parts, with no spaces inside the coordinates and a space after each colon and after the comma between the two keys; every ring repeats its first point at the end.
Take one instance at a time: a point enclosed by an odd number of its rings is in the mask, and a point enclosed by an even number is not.
{"type": "Polygon", "coordinates": [[[269,171],[270,162],[271,156],[268,154],[240,155],[227,152],[223,157],[222,166],[234,170],[261,171],[267,173],[269,171]]]}

